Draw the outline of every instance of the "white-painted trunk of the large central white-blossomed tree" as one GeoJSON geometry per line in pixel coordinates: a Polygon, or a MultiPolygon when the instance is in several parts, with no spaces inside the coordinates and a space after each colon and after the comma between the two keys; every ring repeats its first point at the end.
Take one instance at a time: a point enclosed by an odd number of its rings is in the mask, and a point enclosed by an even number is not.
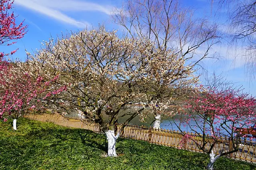
{"type": "Polygon", "coordinates": [[[108,130],[105,132],[108,140],[108,156],[117,156],[116,155],[116,139],[119,134],[115,136],[114,130],[108,130]]]}

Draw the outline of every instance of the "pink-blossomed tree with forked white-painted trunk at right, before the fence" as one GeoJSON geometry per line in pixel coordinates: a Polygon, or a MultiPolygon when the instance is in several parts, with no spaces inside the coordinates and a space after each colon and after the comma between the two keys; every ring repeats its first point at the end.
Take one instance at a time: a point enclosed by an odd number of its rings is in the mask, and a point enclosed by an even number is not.
{"type": "MultiPolygon", "coordinates": [[[[242,133],[239,128],[248,128],[256,122],[256,99],[231,87],[217,89],[200,87],[198,95],[188,101],[184,109],[179,111],[179,123],[175,123],[181,130],[186,126],[195,135],[182,132],[184,138],[181,145],[190,141],[204,153],[209,154],[210,163],[207,168],[213,170],[214,162],[221,156],[232,154],[239,149],[242,133]],[[214,146],[222,140],[221,136],[229,136],[232,141],[231,150],[222,150],[215,156],[214,146]]],[[[177,120],[176,120],[177,121],[177,120]]]]}

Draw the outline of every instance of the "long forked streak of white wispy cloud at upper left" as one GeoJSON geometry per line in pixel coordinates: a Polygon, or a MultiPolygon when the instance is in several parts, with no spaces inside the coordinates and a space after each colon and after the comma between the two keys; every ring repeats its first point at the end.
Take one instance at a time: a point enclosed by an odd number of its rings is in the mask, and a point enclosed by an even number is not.
{"type": "Polygon", "coordinates": [[[78,28],[85,28],[88,22],[76,20],[64,12],[98,11],[110,15],[112,11],[111,6],[76,0],[15,0],[15,4],[78,28]]]}

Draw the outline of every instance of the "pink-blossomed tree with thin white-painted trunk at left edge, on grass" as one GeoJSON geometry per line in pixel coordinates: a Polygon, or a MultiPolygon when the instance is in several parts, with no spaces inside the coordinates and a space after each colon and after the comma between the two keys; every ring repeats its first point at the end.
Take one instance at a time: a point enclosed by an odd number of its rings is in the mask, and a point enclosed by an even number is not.
{"type": "Polygon", "coordinates": [[[47,97],[54,96],[66,89],[65,86],[52,87],[58,76],[50,81],[44,81],[42,76],[33,73],[25,63],[0,64],[0,119],[7,121],[13,118],[13,128],[16,130],[16,120],[29,109],[42,109],[42,102],[47,97]]]}

